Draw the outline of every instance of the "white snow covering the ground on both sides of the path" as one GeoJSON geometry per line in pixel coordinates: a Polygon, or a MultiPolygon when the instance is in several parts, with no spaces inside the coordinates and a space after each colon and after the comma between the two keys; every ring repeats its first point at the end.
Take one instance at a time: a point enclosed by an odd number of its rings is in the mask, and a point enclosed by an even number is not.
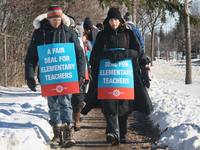
{"type": "MultiPolygon", "coordinates": [[[[192,63],[192,84],[185,85],[185,63],[153,62],[148,89],[159,125],[158,145],[176,150],[200,150],[200,64],[192,63]]],[[[0,87],[0,150],[49,149],[52,129],[46,98],[26,86],[0,87]]]]}

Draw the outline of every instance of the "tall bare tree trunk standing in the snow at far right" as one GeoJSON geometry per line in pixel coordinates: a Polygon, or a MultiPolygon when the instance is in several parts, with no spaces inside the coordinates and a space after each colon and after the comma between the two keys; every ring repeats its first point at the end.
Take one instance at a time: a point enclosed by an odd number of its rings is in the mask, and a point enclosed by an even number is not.
{"type": "Polygon", "coordinates": [[[186,76],[185,84],[192,83],[192,66],[191,66],[191,39],[190,39],[190,16],[188,10],[188,0],[185,2],[185,37],[186,37],[186,76]]]}

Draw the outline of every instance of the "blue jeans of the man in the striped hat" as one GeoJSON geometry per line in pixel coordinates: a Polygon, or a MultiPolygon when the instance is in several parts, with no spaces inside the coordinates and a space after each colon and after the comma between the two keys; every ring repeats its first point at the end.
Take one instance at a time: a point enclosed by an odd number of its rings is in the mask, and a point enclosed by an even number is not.
{"type": "Polygon", "coordinates": [[[72,119],[72,94],[47,97],[49,106],[50,125],[56,126],[60,123],[73,123],[72,119]]]}

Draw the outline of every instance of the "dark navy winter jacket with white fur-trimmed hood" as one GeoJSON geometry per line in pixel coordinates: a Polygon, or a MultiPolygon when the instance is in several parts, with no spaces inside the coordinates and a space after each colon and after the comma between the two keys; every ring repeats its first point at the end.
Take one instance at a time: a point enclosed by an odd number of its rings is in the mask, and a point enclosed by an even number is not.
{"type": "Polygon", "coordinates": [[[34,78],[35,68],[38,62],[37,46],[52,43],[74,43],[76,61],[78,68],[78,76],[85,77],[85,57],[83,49],[80,46],[80,42],[76,33],[72,28],[69,28],[69,20],[66,19],[65,15],[62,17],[62,23],[54,29],[46,19],[46,14],[38,16],[33,25],[36,28],[32,35],[31,43],[28,47],[28,52],[25,59],[25,79],[32,77],[34,78]],[[66,25],[65,25],[66,24],[66,25]],[[65,34],[64,34],[65,32],[65,34]]]}

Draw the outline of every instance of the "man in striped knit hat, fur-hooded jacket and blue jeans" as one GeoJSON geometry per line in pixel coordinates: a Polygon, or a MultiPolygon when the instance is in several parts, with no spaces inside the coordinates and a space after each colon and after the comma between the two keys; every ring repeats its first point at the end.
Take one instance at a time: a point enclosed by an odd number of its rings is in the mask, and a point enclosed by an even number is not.
{"type": "MultiPolygon", "coordinates": [[[[28,48],[25,59],[25,79],[28,87],[36,91],[34,79],[35,68],[38,62],[37,46],[52,43],[74,43],[79,84],[82,84],[85,77],[85,58],[83,49],[80,46],[78,37],[72,28],[69,28],[69,18],[62,13],[60,6],[50,6],[46,14],[38,16],[34,22],[36,30],[28,48]],[[67,24],[68,26],[66,26],[67,24]]],[[[53,128],[54,137],[49,142],[51,146],[72,147],[75,141],[72,139],[72,94],[49,96],[48,107],[50,125],[53,128]]]]}

